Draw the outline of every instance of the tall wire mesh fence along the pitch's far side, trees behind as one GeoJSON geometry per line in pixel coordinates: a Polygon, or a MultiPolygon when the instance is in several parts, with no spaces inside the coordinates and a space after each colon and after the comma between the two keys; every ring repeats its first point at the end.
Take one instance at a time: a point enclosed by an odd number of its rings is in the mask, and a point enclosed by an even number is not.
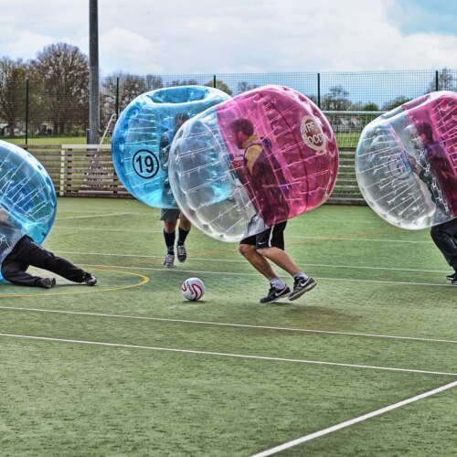
{"type": "MultiPolygon", "coordinates": [[[[280,84],[306,95],[324,111],[336,134],[340,167],[333,197],[359,201],[354,154],[363,128],[383,112],[420,95],[435,90],[457,91],[457,69],[109,76],[100,79],[101,143],[111,143],[119,114],[136,96],[148,90],[188,84],[217,87],[232,96],[267,84],[280,84]]],[[[90,195],[92,190],[94,195],[102,192],[125,196],[106,148],[96,154],[93,149],[87,153],[83,148],[70,152],[69,160],[67,157],[62,165],[62,156],[68,154],[63,152],[67,148],[62,144],[88,143],[89,80],[68,79],[50,86],[41,80],[17,80],[10,81],[7,87],[7,92],[0,88],[0,139],[28,149],[45,160],[48,167],[55,165],[53,180],[60,195],[90,195]],[[77,157],[80,162],[75,162],[77,157]],[[66,184],[62,184],[62,174],[64,180],[68,179],[66,184]],[[100,182],[97,176],[103,177],[100,182]]]]}

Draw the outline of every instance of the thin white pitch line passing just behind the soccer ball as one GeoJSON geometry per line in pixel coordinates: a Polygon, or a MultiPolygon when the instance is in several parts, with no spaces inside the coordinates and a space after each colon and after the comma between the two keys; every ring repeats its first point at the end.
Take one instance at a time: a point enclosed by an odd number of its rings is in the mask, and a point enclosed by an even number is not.
{"type": "MultiPolygon", "coordinates": [[[[81,267],[103,267],[103,268],[123,268],[129,270],[146,270],[146,271],[165,271],[164,267],[154,268],[154,267],[136,267],[134,265],[124,266],[124,265],[101,265],[101,264],[91,264],[91,263],[81,263],[81,267]]],[[[228,276],[259,276],[259,273],[239,273],[235,271],[205,271],[205,270],[181,270],[181,269],[169,269],[166,274],[172,274],[175,271],[176,273],[192,273],[192,274],[226,274],[228,276]]],[[[314,275],[313,275],[314,276],[314,275]]],[[[325,276],[314,276],[314,279],[317,280],[327,280],[327,281],[345,281],[345,282],[373,282],[375,284],[394,284],[394,285],[411,285],[411,286],[432,286],[432,287],[447,287],[447,288],[456,288],[452,284],[436,284],[434,282],[400,282],[400,281],[383,281],[383,280],[359,280],[359,279],[348,279],[348,278],[327,278],[325,276]]]]}

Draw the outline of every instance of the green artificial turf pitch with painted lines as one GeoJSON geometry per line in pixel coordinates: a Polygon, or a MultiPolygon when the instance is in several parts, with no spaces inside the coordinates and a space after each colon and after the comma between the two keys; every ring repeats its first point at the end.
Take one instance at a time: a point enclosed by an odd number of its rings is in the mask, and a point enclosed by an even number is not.
{"type": "Polygon", "coordinates": [[[134,200],[58,200],[45,246],[99,284],[0,283],[0,455],[455,455],[457,289],[426,231],[317,208],[286,230],[317,287],[260,304],[236,245],[193,229],[165,271],[162,230],[134,200]]]}

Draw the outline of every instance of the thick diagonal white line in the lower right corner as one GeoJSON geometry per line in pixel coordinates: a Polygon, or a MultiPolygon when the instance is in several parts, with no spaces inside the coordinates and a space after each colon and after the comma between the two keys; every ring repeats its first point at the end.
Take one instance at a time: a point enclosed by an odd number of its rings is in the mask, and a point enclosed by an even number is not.
{"type": "Polygon", "coordinates": [[[350,427],[351,425],[354,425],[358,422],[362,422],[364,420],[380,416],[381,414],[384,414],[393,409],[401,408],[402,406],[409,405],[410,403],[414,403],[415,401],[419,401],[420,399],[426,399],[427,397],[431,397],[432,395],[438,394],[445,390],[449,390],[450,388],[455,388],[456,386],[457,386],[457,381],[453,381],[449,384],[441,386],[441,388],[434,388],[433,390],[424,392],[420,395],[417,395],[416,397],[411,397],[410,399],[404,399],[402,401],[399,401],[398,403],[394,403],[393,405],[389,405],[385,408],[377,409],[376,411],[372,411],[367,414],[364,414],[363,416],[359,416],[358,418],[351,419],[351,420],[345,420],[345,422],[341,422],[339,424],[336,424],[332,427],[328,427],[323,430],[315,431],[314,433],[303,436],[302,438],[298,438],[297,440],[285,442],[284,444],[271,448],[267,451],[256,453],[256,454],[252,455],[252,457],[266,457],[268,455],[272,455],[277,452],[282,452],[286,449],[292,448],[293,446],[302,444],[303,442],[314,440],[314,438],[320,438],[321,436],[327,435],[329,433],[333,433],[334,431],[341,430],[341,429],[344,429],[345,427],[350,427]]]}

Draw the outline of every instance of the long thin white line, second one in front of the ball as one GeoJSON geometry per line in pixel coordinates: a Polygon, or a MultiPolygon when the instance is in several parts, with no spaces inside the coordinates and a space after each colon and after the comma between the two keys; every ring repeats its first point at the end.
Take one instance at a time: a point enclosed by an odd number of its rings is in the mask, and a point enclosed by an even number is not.
{"type": "Polygon", "coordinates": [[[329,367],[348,367],[348,368],[365,368],[365,369],[376,369],[383,371],[394,371],[401,373],[420,373],[422,375],[440,375],[440,376],[457,376],[457,373],[447,373],[442,371],[429,371],[420,370],[413,368],[396,368],[396,367],[376,367],[370,365],[356,365],[356,364],[343,364],[337,362],[323,362],[321,360],[306,360],[303,358],[283,358],[283,357],[270,357],[270,356],[249,356],[243,354],[229,354],[224,352],[214,351],[197,351],[193,349],[175,349],[172,347],[157,347],[149,345],[122,345],[120,343],[104,343],[101,341],[85,341],[85,340],[73,340],[68,338],[52,338],[48,336],[32,336],[32,335],[12,335],[12,334],[0,334],[0,336],[6,336],[10,338],[23,338],[30,340],[39,341],[55,341],[59,343],[76,343],[79,345],[101,345],[109,347],[123,347],[129,349],[146,349],[150,351],[163,351],[163,352],[175,352],[182,354],[197,354],[200,356],[219,356],[219,357],[232,357],[232,358],[246,358],[250,360],[270,360],[274,362],[292,362],[298,364],[310,364],[310,365],[324,365],[329,367]]]}

